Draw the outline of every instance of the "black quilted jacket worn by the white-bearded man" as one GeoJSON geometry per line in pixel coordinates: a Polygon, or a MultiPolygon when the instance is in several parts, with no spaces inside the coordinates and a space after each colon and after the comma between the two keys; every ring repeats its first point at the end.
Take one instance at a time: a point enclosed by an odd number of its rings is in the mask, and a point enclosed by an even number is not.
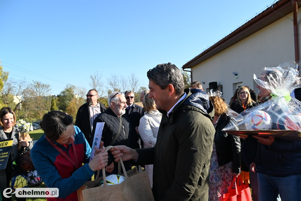
{"type": "MultiPolygon", "coordinates": [[[[104,142],[104,147],[107,147],[110,145],[111,141],[118,133],[120,122],[119,117],[111,110],[111,108],[108,108],[106,111],[100,113],[95,118],[93,122],[92,136],[90,139],[90,147],[92,147],[93,144],[96,124],[98,122],[104,122],[104,129],[102,130],[101,141],[104,142]]],[[[127,147],[130,147],[131,124],[129,117],[126,114],[122,115],[122,124],[123,127],[121,127],[120,134],[112,146],[126,145],[127,147]]],[[[114,157],[109,151],[108,164],[110,165],[112,162],[114,162],[114,170],[118,170],[118,162],[114,161],[114,157]]],[[[124,161],[124,165],[126,167],[129,166],[129,161],[124,161]]]]}

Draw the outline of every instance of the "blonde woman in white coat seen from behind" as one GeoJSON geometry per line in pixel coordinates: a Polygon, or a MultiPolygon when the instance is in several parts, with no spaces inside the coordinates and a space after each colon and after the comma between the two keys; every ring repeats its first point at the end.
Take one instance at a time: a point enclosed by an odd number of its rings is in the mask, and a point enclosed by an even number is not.
{"type": "MultiPolygon", "coordinates": [[[[141,117],[138,131],[143,140],[143,148],[154,147],[157,142],[158,129],[162,119],[162,114],[156,109],[156,104],[153,98],[148,97],[148,93],[143,98],[144,116],[141,117]]],[[[145,165],[150,180],[151,187],[153,187],[153,165],[145,165]]]]}

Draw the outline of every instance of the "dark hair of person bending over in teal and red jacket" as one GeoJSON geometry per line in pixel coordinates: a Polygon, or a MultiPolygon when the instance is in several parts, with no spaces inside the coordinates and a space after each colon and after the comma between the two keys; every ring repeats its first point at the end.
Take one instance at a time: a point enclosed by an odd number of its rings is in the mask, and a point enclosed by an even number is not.
{"type": "Polygon", "coordinates": [[[45,136],[52,141],[56,141],[61,134],[66,131],[67,126],[73,124],[72,116],[65,112],[53,110],[44,114],[40,126],[45,132],[45,136]]]}

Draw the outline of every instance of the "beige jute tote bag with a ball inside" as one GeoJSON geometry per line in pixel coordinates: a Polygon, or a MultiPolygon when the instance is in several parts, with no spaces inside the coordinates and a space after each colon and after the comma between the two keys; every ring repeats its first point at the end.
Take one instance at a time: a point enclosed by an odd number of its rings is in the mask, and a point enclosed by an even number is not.
{"type": "MultiPolygon", "coordinates": [[[[106,147],[108,151],[113,146],[106,147]]],[[[154,196],[151,190],[151,185],[148,180],[147,173],[137,172],[136,168],[125,171],[122,159],[118,164],[118,171],[120,173],[120,164],[122,166],[123,175],[126,179],[121,184],[107,185],[105,178],[105,170],[102,169],[103,177],[98,178],[99,170],[95,181],[87,181],[84,185],[86,186],[82,190],[83,201],[152,201],[154,196]],[[104,180],[104,186],[98,187],[98,184],[104,180]],[[95,187],[96,186],[96,187],[95,187]]],[[[80,194],[80,193],[79,193],[80,194]]],[[[80,196],[80,195],[79,195],[80,196]]],[[[80,199],[80,198],[79,198],[80,199]]]]}

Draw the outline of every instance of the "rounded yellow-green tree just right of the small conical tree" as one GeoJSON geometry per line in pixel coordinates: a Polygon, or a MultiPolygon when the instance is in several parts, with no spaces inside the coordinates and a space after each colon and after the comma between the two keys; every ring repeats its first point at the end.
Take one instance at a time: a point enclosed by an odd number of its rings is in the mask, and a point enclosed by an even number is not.
{"type": "Polygon", "coordinates": [[[66,111],[66,108],[70,101],[75,97],[75,86],[68,84],[66,88],[57,95],[58,108],[62,111],[66,111]]]}

